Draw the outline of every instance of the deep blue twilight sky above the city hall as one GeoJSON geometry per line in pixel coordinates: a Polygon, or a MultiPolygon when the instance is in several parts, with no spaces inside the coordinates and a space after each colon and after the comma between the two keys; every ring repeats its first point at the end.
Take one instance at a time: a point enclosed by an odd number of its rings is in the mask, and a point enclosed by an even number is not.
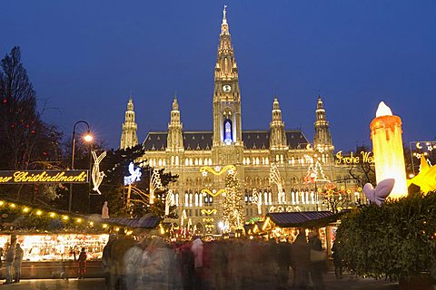
{"type": "MultiPolygon", "coordinates": [[[[45,111],[66,136],[89,121],[119,145],[129,92],[138,137],[166,131],[174,91],[183,128],[212,130],[223,1],[2,3],[0,55],[20,45],[45,111]]],[[[277,94],[287,129],[313,136],[321,93],[337,150],[370,142],[380,101],[403,139],[435,140],[436,1],[226,1],[243,129],[267,130],[277,94]]]]}

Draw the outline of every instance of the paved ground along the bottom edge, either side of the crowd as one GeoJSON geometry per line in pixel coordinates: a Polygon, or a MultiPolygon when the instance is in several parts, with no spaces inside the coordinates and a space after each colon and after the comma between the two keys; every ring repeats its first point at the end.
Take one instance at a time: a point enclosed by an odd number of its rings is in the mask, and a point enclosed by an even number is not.
{"type": "MultiPolygon", "coordinates": [[[[333,273],[328,273],[324,276],[326,290],[339,289],[376,289],[376,290],[393,290],[398,289],[398,283],[389,283],[387,281],[373,279],[356,279],[351,275],[344,275],[342,280],[337,281],[333,273]]],[[[0,290],[104,290],[103,279],[69,279],[69,280],[22,280],[19,284],[0,285],[0,290]]],[[[269,290],[268,286],[263,287],[264,290],[269,290]]],[[[272,289],[275,290],[275,289],[272,289]]]]}

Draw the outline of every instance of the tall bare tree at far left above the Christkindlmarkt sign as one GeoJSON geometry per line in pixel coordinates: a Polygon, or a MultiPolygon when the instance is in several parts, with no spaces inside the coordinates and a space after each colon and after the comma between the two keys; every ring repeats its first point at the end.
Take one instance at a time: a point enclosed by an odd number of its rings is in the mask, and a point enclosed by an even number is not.
{"type": "MultiPolygon", "coordinates": [[[[62,134],[42,121],[17,46],[0,63],[0,97],[0,169],[29,169],[35,161],[57,160],[62,134]]],[[[14,189],[21,198],[23,186],[14,189]]]]}

